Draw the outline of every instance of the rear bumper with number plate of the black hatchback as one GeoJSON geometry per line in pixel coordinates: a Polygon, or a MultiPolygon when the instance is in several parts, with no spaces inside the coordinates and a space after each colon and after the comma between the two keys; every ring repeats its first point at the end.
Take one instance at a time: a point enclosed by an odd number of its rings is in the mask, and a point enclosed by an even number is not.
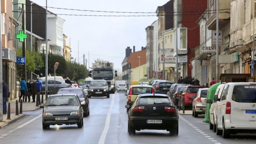
{"type": "Polygon", "coordinates": [[[129,117],[131,126],[138,130],[170,131],[178,124],[178,117],[129,117]],[[162,124],[148,124],[147,119],[162,119],[162,124]]]}

